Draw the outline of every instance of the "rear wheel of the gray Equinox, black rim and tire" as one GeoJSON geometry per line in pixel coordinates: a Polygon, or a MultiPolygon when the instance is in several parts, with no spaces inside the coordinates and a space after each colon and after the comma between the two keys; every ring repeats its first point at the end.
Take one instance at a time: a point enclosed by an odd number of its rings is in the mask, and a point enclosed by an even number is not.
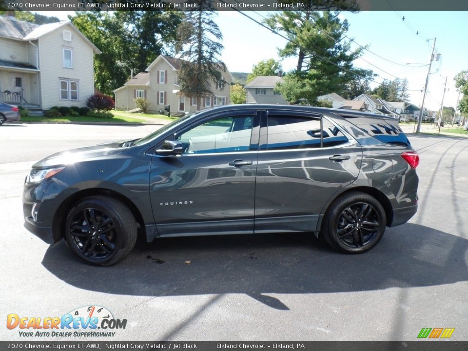
{"type": "Polygon", "coordinates": [[[331,203],[321,235],[341,252],[360,254],[378,244],[386,223],[384,208],[375,197],[352,192],[331,203]]]}

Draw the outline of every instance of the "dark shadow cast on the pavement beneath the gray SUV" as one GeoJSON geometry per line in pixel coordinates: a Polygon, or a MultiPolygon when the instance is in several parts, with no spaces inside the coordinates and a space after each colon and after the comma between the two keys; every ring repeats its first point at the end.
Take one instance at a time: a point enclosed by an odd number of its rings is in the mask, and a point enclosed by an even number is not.
{"type": "Polygon", "coordinates": [[[123,261],[102,268],[75,259],[62,240],[49,247],[42,265],[66,283],[90,291],[147,296],[245,293],[287,310],[268,294],[467,281],[467,249],[467,239],[406,224],[387,229],[379,245],[360,255],[332,251],[312,234],[181,237],[139,241],[123,261]]]}

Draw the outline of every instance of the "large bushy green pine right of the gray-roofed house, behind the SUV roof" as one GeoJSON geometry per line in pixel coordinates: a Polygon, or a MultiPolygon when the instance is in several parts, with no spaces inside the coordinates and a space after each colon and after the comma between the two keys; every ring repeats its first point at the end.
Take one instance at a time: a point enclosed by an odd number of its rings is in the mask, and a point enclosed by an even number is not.
{"type": "Polygon", "coordinates": [[[338,15],[330,11],[283,11],[266,20],[289,39],[279,50],[280,57],[297,57],[296,69],[277,87],[287,101],[315,104],[317,97],[342,91],[356,77],[371,76],[371,71],[353,66],[352,61],[362,55],[363,49],[351,51],[350,41],[344,37],[348,21],[341,22],[338,15]]]}

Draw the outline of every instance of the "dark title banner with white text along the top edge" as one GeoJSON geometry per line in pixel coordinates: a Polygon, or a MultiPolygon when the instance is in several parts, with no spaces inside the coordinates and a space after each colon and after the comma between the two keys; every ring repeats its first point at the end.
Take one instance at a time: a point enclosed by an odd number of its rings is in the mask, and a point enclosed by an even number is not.
{"type": "MultiPolygon", "coordinates": [[[[468,11],[466,0],[0,0],[0,10],[14,11],[468,11]]],[[[468,14],[467,14],[468,16],[468,14]]]]}

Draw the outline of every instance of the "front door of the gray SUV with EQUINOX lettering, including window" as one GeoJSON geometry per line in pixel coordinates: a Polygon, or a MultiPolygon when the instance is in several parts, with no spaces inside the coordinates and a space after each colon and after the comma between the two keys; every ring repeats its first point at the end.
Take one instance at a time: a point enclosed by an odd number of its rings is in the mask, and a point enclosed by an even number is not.
{"type": "Polygon", "coordinates": [[[153,155],[159,235],[253,233],[258,132],[255,110],[215,113],[175,133],[182,155],[153,155]]]}

